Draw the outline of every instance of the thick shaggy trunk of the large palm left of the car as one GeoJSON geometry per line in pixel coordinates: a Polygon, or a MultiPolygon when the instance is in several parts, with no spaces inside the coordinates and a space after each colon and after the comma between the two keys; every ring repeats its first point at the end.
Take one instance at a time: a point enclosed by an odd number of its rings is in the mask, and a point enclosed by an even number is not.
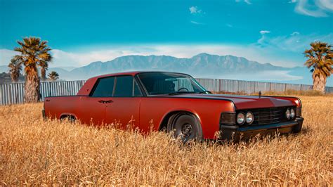
{"type": "Polygon", "coordinates": [[[39,92],[39,77],[35,75],[27,75],[25,80],[25,102],[26,103],[35,103],[40,99],[39,92]]]}

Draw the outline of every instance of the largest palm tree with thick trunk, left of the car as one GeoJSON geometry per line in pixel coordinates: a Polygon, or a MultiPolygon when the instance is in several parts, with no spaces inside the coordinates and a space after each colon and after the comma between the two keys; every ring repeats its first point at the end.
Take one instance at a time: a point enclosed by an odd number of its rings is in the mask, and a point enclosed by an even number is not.
{"type": "Polygon", "coordinates": [[[37,67],[51,59],[51,49],[47,46],[47,41],[41,41],[37,37],[25,37],[18,44],[20,47],[15,47],[14,51],[20,54],[13,59],[25,66],[25,102],[37,102],[40,98],[37,67]]]}

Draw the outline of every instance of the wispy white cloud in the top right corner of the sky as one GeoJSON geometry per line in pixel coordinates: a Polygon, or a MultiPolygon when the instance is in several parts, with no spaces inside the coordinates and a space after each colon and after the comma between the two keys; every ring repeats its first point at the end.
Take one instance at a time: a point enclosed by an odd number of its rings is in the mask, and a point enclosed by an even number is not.
{"type": "Polygon", "coordinates": [[[289,3],[296,3],[296,13],[316,18],[327,17],[328,13],[333,12],[332,0],[292,0],[289,3]]]}

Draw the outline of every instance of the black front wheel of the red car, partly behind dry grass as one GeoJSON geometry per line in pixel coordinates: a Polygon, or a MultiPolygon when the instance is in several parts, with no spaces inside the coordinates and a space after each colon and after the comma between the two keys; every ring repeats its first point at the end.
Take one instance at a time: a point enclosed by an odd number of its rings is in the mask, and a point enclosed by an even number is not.
{"type": "Polygon", "coordinates": [[[180,138],[183,143],[191,140],[202,140],[202,129],[194,115],[177,114],[170,117],[168,132],[173,132],[174,138],[180,138]]]}

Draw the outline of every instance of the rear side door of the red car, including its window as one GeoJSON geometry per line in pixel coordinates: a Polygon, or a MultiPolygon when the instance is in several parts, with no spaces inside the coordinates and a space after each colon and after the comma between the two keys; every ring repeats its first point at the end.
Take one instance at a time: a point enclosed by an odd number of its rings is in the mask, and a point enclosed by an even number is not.
{"type": "Polygon", "coordinates": [[[96,81],[89,96],[82,96],[79,110],[79,119],[85,124],[101,125],[105,123],[105,108],[112,100],[115,77],[103,77],[96,81]]]}

